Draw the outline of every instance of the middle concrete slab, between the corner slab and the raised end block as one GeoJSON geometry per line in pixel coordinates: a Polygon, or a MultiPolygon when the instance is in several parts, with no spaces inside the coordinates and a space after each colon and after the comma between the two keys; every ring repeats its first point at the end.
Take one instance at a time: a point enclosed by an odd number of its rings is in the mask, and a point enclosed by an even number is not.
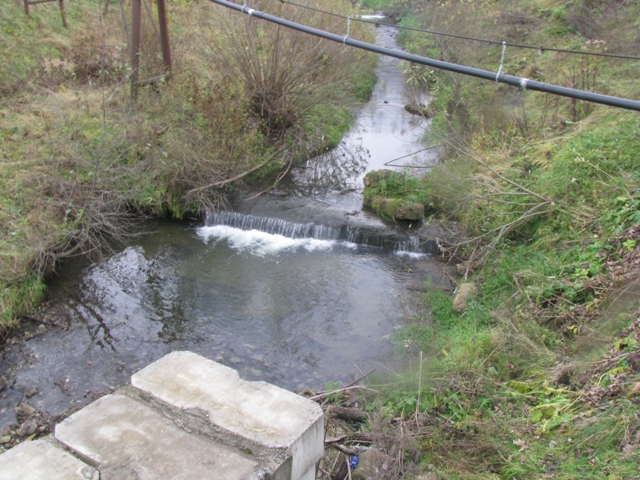
{"type": "Polygon", "coordinates": [[[55,438],[98,467],[101,480],[262,478],[248,455],[190,434],[125,395],[95,401],[56,426],[55,438]]]}

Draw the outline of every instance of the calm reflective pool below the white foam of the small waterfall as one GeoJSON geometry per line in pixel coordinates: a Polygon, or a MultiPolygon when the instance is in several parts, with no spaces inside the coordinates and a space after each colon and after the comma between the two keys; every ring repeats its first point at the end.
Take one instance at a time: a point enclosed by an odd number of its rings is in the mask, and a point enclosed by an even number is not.
{"type": "Polygon", "coordinates": [[[260,257],[162,224],[86,268],[79,285],[52,287],[50,310],[64,311],[67,327],[9,352],[16,385],[0,408],[35,387],[31,403],[57,414],[183,349],[292,390],[347,382],[390,361],[404,285],[423,277],[415,260],[372,247],[260,257]]]}

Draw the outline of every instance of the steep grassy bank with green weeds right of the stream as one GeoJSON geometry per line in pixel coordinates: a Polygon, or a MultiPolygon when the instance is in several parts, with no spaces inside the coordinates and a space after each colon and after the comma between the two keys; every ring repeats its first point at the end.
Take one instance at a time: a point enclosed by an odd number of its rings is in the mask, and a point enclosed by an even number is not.
{"type": "MultiPolygon", "coordinates": [[[[635,2],[395,7],[410,11],[400,22],[412,27],[637,54],[635,2]]],[[[491,71],[501,63],[499,45],[400,38],[434,58],[491,71]]],[[[416,367],[368,407],[376,431],[396,438],[387,453],[409,478],[637,478],[640,116],[427,68],[407,73],[432,94],[428,140],[445,156],[420,195],[415,179],[405,195],[426,196],[430,221],[456,227],[459,240],[443,242],[443,253],[456,282],[477,294],[457,310],[453,293],[427,287],[398,336],[416,367]]],[[[640,98],[636,60],[507,48],[503,73],[640,98]]]]}

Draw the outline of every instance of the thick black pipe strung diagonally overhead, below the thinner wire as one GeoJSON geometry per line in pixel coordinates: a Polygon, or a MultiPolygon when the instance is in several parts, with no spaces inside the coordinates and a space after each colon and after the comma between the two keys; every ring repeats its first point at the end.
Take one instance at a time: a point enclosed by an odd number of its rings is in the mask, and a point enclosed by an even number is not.
{"type": "Polygon", "coordinates": [[[372,45],[371,43],[361,42],[359,40],[353,40],[348,35],[340,36],[335,33],[326,32],[317,28],[309,27],[300,23],[285,20],[268,13],[248,8],[246,5],[237,5],[235,3],[228,2],[227,0],[210,0],[213,3],[222,5],[223,7],[236,10],[238,12],[246,13],[249,16],[260,18],[277,25],[282,25],[293,30],[298,30],[303,33],[315,35],[316,37],[331,40],[332,42],[342,43],[351,47],[359,48],[361,50],[367,50],[369,52],[378,53],[380,55],[386,55],[389,57],[399,58],[400,60],[406,60],[412,63],[419,63],[421,65],[427,65],[440,70],[447,70],[449,72],[461,73],[463,75],[469,75],[472,77],[482,78],[484,80],[491,80],[499,83],[505,83],[512,87],[519,87],[522,90],[535,90],[539,92],[551,93],[554,95],[561,95],[564,97],[576,98],[578,100],[584,100],[587,102],[600,103],[603,105],[609,105],[612,107],[625,108],[628,110],[640,111],[640,101],[629,100],[626,98],[612,97],[610,95],[603,95],[600,93],[586,92],[584,90],[577,90],[575,88],[561,87],[558,85],[552,85],[549,83],[539,82],[537,80],[530,80],[528,78],[516,77],[514,75],[502,75],[498,72],[490,72],[488,70],[481,70],[479,68],[468,67],[466,65],[458,65],[456,63],[445,62],[442,60],[435,60],[433,58],[421,57],[400,50],[393,50],[391,48],[380,47],[378,45],[372,45]]]}

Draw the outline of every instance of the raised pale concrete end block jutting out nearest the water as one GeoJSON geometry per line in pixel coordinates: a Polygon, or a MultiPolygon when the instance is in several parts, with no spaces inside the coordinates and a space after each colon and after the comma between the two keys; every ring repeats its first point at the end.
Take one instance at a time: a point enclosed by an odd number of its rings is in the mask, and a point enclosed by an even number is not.
{"type": "Polygon", "coordinates": [[[202,409],[209,422],[266,447],[286,448],[293,480],[307,478],[324,451],[324,417],[313,401],[192,352],[173,352],[131,377],[131,384],[181,409],[202,409]]]}

